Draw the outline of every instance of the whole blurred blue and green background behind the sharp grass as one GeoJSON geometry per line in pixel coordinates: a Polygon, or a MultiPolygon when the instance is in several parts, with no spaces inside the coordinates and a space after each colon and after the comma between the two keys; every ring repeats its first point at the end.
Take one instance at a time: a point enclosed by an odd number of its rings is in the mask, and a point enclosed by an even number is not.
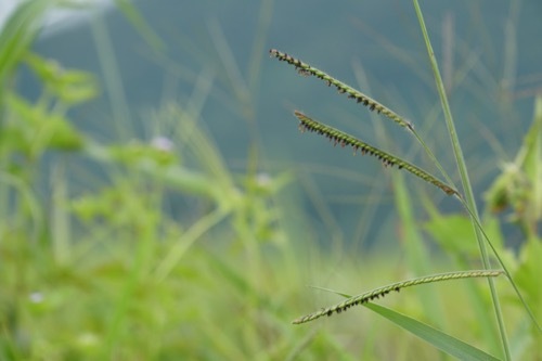
{"type": "MultiPolygon", "coordinates": [[[[2,1],[4,20],[15,3],[2,1]]],[[[542,2],[422,9],[488,233],[540,305],[540,248],[531,258],[521,248],[540,241],[509,214],[490,215],[485,195],[533,119],[542,2]]],[[[29,142],[34,158],[23,145],[0,153],[0,359],[448,360],[364,309],[289,324],[341,299],[307,285],[356,294],[481,268],[459,202],[301,134],[293,112],[439,175],[404,129],[269,56],[292,54],[409,118],[460,184],[410,2],[95,1],[39,24],[29,53],[88,72],[95,94],[57,101],[24,56],[2,85],[83,136],[67,152],[29,142]]],[[[9,99],[5,119],[34,114],[12,112],[20,103],[9,99]]],[[[514,356],[538,360],[540,333],[499,286],[514,356]]],[[[487,284],[457,288],[385,302],[499,354],[487,284]]]]}

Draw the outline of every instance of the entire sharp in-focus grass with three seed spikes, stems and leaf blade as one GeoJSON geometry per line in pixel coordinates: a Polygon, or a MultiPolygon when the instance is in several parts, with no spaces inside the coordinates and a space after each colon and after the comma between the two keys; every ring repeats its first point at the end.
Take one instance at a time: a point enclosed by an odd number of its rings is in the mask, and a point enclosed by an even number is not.
{"type": "MultiPolygon", "coordinates": [[[[439,160],[435,157],[433,154],[431,150],[426,145],[425,141],[422,139],[422,137],[414,130],[412,124],[408,120],[405,120],[404,117],[398,115],[397,113],[392,112],[388,107],[384,106],[382,103],[375,101],[374,99],[365,95],[361,91],[344,83],[343,81],[339,81],[328,74],[307,64],[304,63],[302,61],[288,55],[287,53],[281,52],[276,49],[271,49],[270,54],[273,57],[279,59],[280,61],[286,62],[289,65],[293,65],[297,72],[302,75],[302,76],[314,76],[318,79],[324,80],[328,87],[334,86],[339,93],[346,94],[349,99],[356,100],[357,103],[361,103],[364,106],[369,107],[370,111],[375,111],[378,114],[383,114],[387,116],[388,118],[392,119],[396,124],[400,125],[401,127],[404,127],[410,130],[410,132],[414,136],[414,138],[420,142],[420,144],[424,147],[425,152],[427,155],[431,158],[436,167],[441,171],[443,178],[446,179],[446,183],[441,180],[439,180],[437,177],[428,173],[427,171],[418,168],[417,166],[414,166],[413,164],[400,158],[399,156],[391,155],[390,153],[384,152],[373,145],[370,145],[344,131],[340,131],[338,129],[332,128],[327,125],[324,125],[322,123],[319,123],[317,120],[311,119],[307,115],[302,114],[301,112],[295,111],[294,114],[295,116],[299,119],[299,129],[301,131],[312,131],[315,132],[320,136],[324,136],[328,138],[331,141],[334,142],[335,145],[340,144],[343,147],[345,146],[351,146],[353,149],[353,153],[358,153],[360,151],[362,154],[369,154],[372,156],[375,156],[378,158],[385,167],[387,166],[397,166],[399,169],[406,169],[414,176],[425,180],[426,182],[429,182],[436,186],[438,186],[440,190],[442,190],[447,195],[455,195],[460,202],[465,206],[467,212],[472,216],[472,222],[473,227],[475,227],[477,238],[479,242],[480,246],[480,253],[481,253],[481,258],[482,258],[482,263],[483,267],[486,268],[486,271],[468,271],[468,272],[454,272],[454,273],[449,273],[449,274],[441,274],[437,276],[426,276],[413,281],[408,281],[408,282],[402,282],[402,283],[396,283],[389,286],[380,287],[377,289],[374,289],[370,293],[362,294],[360,296],[356,297],[350,297],[346,301],[328,307],[328,308],[323,308],[318,312],[310,313],[308,315],[301,317],[297,320],[294,321],[295,324],[298,323],[305,323],[308,321],[312,321],[314,319],[318,319],[322,315],[332,315],[333,313],[339,313],[343,311],[348,310],[352,306],[357,306],[360,304],[367,304],[374,299],[378,299],[379,297],[383,297],[387,295],[391,291],[397,291],[399,292],[400,288],[406,287],[406,286],[412,286],[412,285],[417,285],[417,284],[423,284],[423,283],[428,283],[428,282],[437,282],[437,281],[446,281],[446,280],[451,280],[451,279],[462,279],[462,278],[470,278],[470,276],[487,276],[490,278],[489,280],[489,285],[491,289],[491,296],[492,296],[492,301],[493,301],[493,307],[495,310],[495,315],[498,319],[498,328],[499,333],[501,335],[502,339],[502,353],[506,360],[511,360],[511,353],[509,353],[509,347],[508,347],[508,341],[506,339],[506,332],[504,330],[504,322],[502,319],[502,310],[500,307],[499,299],[496,297],[496,291],[494,288],[494,283],[491,280],[492,276],[496,276],[501,273],[505,273],[506,276],[512,281],[512,284],[514,288],[516,289],[518,297],[524,304],[524,307],[528,311],[529,315],[533,320],[534,324],[538,326],[538,322],[535,321],[535,318],[533,317],[533,313],[530,312],[528,305],[525,302],[522,296],[519,294],[517,286],[514,284],[513,278],[511,276],[509,272],[507,271],[507,268],[505,265],[502,262],[501,257],[499,256],[499,253],[496,248],[493,247],[491,244],[490,240],[487,238],[488,244],[492,248],[492,250],[495,253],[495,257],[499,260],[502,271],[493,271],[490,270],[489,267],[489,260],[488,260],[488,254],[486,252],[486,245],[483,244],[483,240],[481,237],[481,234],[486,235],[485,231],[481,229],[480,221],[479,221],[479,216],[476,210],[476,205],[474,203],[474,196],[472,194],[472,189],[469,184],[469,180],[467,177],[466,172],[466,167],[464,163],[464,158],[462,155],[462,151],[459,144],[459,140],[456,138],[456,132],[454,129],[453,120],[451,117],[451,112],[448,105],[448,101],[446,98],[446,92],[443,91],[443,85],[440,79],[438,66],[436,64],[435,57],[434,57],[434,52],[430,46],[430,42],[428,40],[428,35],[425,29],[425,25],[423,23],[423,17],[421,15],[421,11],[417,5],[417,1],[414,1],[415,8],[416,8],[416,13],[420,18],[421,23],[421,28],[423,30],[424,39],[426,40],[426,47],[429,53],[429,57],[431,60],[431,66],[434,68],[435,73],[435,78],[437,81],[437,86],[439,89],[439,94],[441,95],[441,103],[442,107],[444,111],[444,116],[447,119],[447,125],[449,129],[449,133],[452,140],[453,144],[453,151],[454,155],[456,157],[456,162],[460,168],[460,172],[462,176],[462,185],[464,189],[467,189],[468,191],[468,199],[464,199],[463,196],[456,191],[456,186],[453,185],[453,181],[451,180],[450,176],[448,172],[443,169],[443,167],[440,165],[439,160]],[[479,227],[479,228],[478,228],[479,227]]],[[[375,309],[372,307],[373,305],[370,306],[370,308],[375,311],[375,309]]],[[[389,317],[389,319],[393,319],[393,322],[397,322],[398,324],[401,323],[405,330],[409,330],[413,334],[416,334],[421,336],[422,338],[426,339],[427,341],[435,345],[437,348],[440,348],[441,350],[444,350],[449,352],[450,354],[468,354],[469,359],[480,359],[480,354],[482,354],[485,359],[494,359],[492,356],[485,353],[483,351],[476,349],[475,347],[472,347],[469,345],[464,345],[461,344],[457,339],[450,337],[449,335],[446,334],[440,334],[439,332],[435,330],[428,330],[426,326],[421,326],[418,323],[416,323],[413,320],[404,320],[404,318],[399,317],[397,313],[393,314],[393,311],[386,310],[383,311],[382,309],[378,309],[376,311],[377,313],[380,313],[380,315],[384,315],[386,318],[389,317]],[[423,328],[423,332],[420,333],[420,331],[423,328]],[[426,336],[430,337],[426,337],[426,336]],[[442,345],[447,345],[447,347],[442,348],[442,345]],[[461,344],[461,345],[460,345],[461,344]],[[457,352],[461,350],[460,352],[457,352]]],[[[489,323],[486,322],[486,323],[489,323]]],[[[540,327],[539,327],[540,330],[540,327]]],[[[489,336],[488,332],[488,337],[489,340],[492,340],[492,336],[489,336]]],[[[494,343],[493,343],[494,344],[494,343]]],[[[493,349],[496,349],[499,346],[496,345],[491,345],[493,349]]]]}

